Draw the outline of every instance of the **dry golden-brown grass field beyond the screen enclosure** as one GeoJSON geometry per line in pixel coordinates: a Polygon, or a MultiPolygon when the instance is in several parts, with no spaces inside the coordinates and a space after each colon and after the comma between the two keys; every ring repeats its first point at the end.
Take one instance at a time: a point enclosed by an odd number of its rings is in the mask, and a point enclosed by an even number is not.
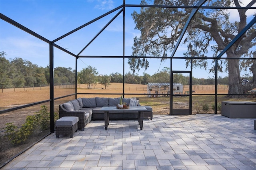
{"type": "MultiPolygon", "coordinates": [[[[224,86],[218,86],[219,94],[227,94],[228,88],[224,86]]],[[[193,94],[214,94],[213,85],[201,85],[192,87],[195,92],[193,94]]],[[[159,91],[159,88],[156,87],[152,90],[159,91]]],[[[184,86],[184,92],[188,91],[188,86],[184,86]]],[[[78,93],[101,93],[102,95],[80,95],[80,97],[120,97],[119,94],[123,93],[123,84],[122,83],[111,83],[110,86],[104,88],[102,85],[95,85],[92,89],[88,89],[87,85],[78,85],[78,93]],[[103,88],[103,89],[102,89],[103,88]],[[113,95],[104,95],[106,93],[113,93],[113,95]]],[[[161,89],[161,92],[166,92],[164,89],[161,89]]],[[[62,86],[56,86],[54,88],[54,97],[61,97],[64,95],[69,95],[75,93],[75,89],[65,88],[62,86]]],[[[125,97],[147,97],[147,85],[134,85],[134,84],[125,84],[124,93],[139,93],[140,95],[126,95],[125,97]]],[[[161,94],[160,94],[161,96],[161,94]]],[[[19,105],[25,105],[28,103],[34,103],[38,101],[48,100],[50,98],[50,89],[49,87],[29,87],[29,88],[16,88],[16,89],[2,89],[0,93],[0,109],[8,109],[10,107],[16,107],[19,105]]]]}

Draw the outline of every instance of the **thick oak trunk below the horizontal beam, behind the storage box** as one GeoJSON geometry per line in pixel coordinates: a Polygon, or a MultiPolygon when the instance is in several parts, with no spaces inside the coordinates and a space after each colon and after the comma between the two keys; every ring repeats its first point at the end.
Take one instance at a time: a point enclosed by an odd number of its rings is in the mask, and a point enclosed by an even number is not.
{"type": "Polygon", "coordinates": [[[232,95],[232,94],[243,94],[242,82],[240,77],[239,60],[229,59],[228,60],[228,95],[229,98],[244,98],[243,95],[232,95]]]}

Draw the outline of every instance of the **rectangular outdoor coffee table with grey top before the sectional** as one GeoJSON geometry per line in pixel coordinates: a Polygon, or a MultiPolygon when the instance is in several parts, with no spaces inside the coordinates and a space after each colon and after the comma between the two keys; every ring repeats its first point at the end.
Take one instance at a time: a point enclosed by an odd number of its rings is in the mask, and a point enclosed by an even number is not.
{"type": "Polygon", "coordinates": [[[147,109],[144,106],[136,106],[136,107],[130,107],[129,109],[117,109],[116,106],[110,106],[110,107],[102,107],[100,109],[101,111],[104,111],[104,121],[105,121],[105,130],[108,130],[109,125],[109,112],[118,112],[118,113],[134,113],[138,112],[138,122],[140,125],[140,130],[143,128],[143,112],[146,112],[147,109]]]}

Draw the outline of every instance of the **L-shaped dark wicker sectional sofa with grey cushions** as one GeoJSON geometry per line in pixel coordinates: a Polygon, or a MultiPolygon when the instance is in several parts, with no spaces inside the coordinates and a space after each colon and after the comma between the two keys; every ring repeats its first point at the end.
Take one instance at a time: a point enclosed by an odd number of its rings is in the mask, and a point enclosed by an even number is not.
{"type": "MultiPolygon", "coordinates": [[[[106,97],[93,97],[93,98],[78,98],[67,103],[59,105],[59,117],[64,116],[76,116],[78,117],[78,128],[84,130],[84,127],[92,119],[104,119],[104,111],[100,109],[104,106],[117,106],[120,102],[120,98],[106,98],[106,97]]],[[[140,107],[139,100],[135,97],[123,98],[123,102],[130,105],[130,107],[140,107]]],[[[144,112],[144,117],[152,120],[152,107],[145,106],[147,111],[144,112]]],[[[109,112],[110,119],[138,119],[138,112],[133,112],[129,114],[120,112],[109,112]]]]}

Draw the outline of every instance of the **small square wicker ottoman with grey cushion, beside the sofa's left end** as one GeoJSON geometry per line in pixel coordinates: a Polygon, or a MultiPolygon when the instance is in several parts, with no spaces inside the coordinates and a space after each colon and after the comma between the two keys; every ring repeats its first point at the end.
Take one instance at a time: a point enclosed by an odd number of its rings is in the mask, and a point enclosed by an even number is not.
{"type": "Polygon", "coordinates": [[[78,117],[74,116],[66,116],[58,119],[55,127],[56,138],[59,138],[60,134],[69,134],[70,138],[72,138],[74,132],[77,132],[77,123],[78,117]]]}

